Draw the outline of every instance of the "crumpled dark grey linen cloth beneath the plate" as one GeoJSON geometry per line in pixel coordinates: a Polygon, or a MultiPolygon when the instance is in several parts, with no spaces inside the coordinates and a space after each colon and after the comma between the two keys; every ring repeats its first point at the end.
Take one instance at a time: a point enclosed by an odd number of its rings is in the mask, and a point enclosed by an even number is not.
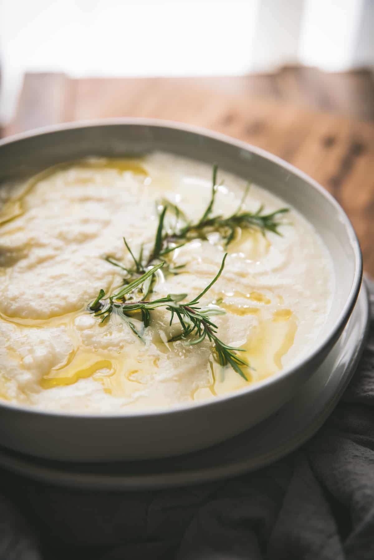
{"type": "Polygon", "coordinates": [[[331,417],[274,465],[134,493],[67,491],[0,471],[0,493],[0,560],[373,560],[374,324],[331,417]]]}

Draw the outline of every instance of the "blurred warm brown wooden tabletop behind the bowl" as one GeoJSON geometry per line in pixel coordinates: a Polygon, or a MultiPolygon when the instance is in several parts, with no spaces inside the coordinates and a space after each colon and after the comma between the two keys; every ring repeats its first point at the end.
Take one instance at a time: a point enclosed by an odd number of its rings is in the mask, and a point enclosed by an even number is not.
{"type": "MultiPolygon", "coordinates": [[[[260,97],[258,90],[253,94],[251,83],[246,77],[72,80],[63,74],[28,74],[5,133],[71,120],[146,116],[250,142],[307,172],[339,200],[357,231],[364,268],[374,276],[374,124],[305,108],[292,84],[290,103],[279,96],[260,97]]],[[[371,93],[362,95],[363,104],[371,93]]],[[[355,114],[371,120],[374,100],[369,101],[369,109],[355,114]]]]}

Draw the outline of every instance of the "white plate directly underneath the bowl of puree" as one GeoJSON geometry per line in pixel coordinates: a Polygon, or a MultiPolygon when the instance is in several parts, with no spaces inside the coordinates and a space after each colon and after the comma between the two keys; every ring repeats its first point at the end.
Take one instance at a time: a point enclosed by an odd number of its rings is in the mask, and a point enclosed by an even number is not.
{"type": "Polygon", "coordinates": [[[308,440],[331,414],[358,365],[369,315],[363,283],[343,334],[302,390],[276,414],[221,444],[169,459],[111,464],[47,461],[2,448],[0,465],[57,486],[131,491],[213,482],[273,463],[308,440]]]}

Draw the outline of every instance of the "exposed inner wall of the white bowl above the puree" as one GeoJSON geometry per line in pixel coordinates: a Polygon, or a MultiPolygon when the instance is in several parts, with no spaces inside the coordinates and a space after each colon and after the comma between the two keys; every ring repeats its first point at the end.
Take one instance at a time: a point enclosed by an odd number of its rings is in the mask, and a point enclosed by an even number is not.
{"type": "MultiPolygon", "coordinates": [[[[357,238],[339,204],[302,172],[258,148],[172,123],[126,119],[21,135],[0,143],[0,183],[66,160],[141,155],[163,150],[213,164],[268,189],[297,208],[321,235],[333,259],[335,295],[321,339],[352,310],[361,283],[357,238]]],[[[319,340],[316,343],[321,343],[319,340]]]]}

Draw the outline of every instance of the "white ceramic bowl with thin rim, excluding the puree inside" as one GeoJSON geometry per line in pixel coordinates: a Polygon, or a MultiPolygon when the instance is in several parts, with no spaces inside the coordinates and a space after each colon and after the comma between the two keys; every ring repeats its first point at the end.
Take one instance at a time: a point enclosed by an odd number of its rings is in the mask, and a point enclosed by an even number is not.
{"type": "Polygon", "coordinates": [[[163,150],[250,179],[297,208],[318,230],[333,259],[336,288],[313,351],[279,374],[233,394],[192,405],[121,416],[40,412],[0,403],[0,445],[66,461],[115,461],[187,453],[260,422],[289,400],[333,348],[362,279],[353,227],[336,200],[310,177],[263,150],[232,138],[149,119],[116,119],[37,130],[0,142],[0,183],[58,162],[163,150]]]}

